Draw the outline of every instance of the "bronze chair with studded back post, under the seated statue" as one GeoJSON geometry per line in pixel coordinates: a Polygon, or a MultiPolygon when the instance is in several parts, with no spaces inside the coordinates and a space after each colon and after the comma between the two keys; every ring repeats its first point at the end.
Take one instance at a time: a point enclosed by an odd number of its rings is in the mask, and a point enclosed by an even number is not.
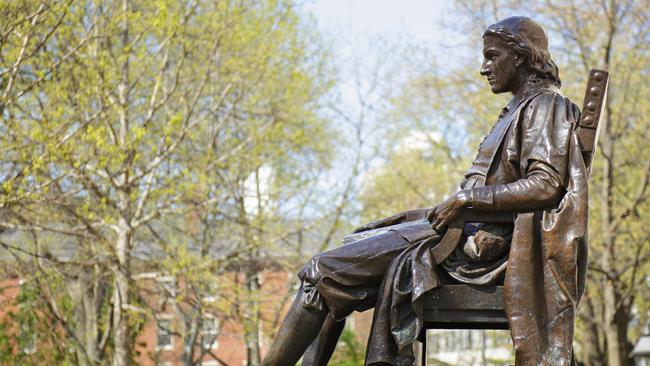
{"type": "MultiPolygon", "coordinates": [[[[608,73],[592,69],[589,73],[582,114],[576,128],[587,169],[598,140],[598,126],[607,94],[608,73]]],[[[459,245],[466,222],[508,223],[514,214],[465,210],[449,225],[442,241],[433,250],[436,263],[444,261],[459,245]]],[[[427,329],[508,329],[503,307],[503,286],[445,285],[431,291],[424,302],[424,330],[420,334],[422,365],[426,364],[427,329]]]]}

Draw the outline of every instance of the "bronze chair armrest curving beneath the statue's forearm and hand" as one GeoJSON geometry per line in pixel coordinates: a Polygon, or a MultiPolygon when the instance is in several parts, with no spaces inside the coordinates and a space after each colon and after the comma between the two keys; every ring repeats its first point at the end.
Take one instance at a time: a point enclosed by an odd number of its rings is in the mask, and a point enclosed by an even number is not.
{"type": "Polygon", "coordinates": [[[514,213],[508,212],[484,212],[476,211],[471,208],[463,210],[463,212],[456,218],[449,227],[445,236],[440,240],[440,243],[431,250],[431,255],[435,264],[442,263],[460,244],[460,239],[463,236],[463,229],[467,222],[481,222],[481,223],[509,223],[514,222],[514,213]]]}

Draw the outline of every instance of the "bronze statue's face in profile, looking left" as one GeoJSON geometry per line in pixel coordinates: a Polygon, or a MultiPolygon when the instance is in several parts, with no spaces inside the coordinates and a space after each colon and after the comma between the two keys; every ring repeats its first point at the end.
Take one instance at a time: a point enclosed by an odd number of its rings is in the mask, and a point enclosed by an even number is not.
{"type": "Polygon", "coordinates": [[[517,53],[500,38],[491,35],[483,38],[481,75],[488,79],[493,93],[517,90],[519,63],[521,60],[517,53]]]}

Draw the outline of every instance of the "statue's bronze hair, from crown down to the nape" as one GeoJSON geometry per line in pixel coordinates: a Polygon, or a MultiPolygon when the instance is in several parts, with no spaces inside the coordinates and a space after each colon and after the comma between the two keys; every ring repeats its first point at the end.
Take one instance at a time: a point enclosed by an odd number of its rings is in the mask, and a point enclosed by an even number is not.
{"type": "Polygon", "coordinates": [[[483,33],[501,39],[508,47],[524,56],[533,72],[531,82],[547,80],[558,88],[562,85],[560,70],[548,52],[546,34],[542,27],[525,17],[511,17],[488,27],[483,33]]]}

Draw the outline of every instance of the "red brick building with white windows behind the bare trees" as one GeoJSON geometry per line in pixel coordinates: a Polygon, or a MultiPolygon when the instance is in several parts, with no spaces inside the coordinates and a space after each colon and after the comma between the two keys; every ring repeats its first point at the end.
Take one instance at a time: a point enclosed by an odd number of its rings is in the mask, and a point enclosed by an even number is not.
{"type": "MultiPolygon", "coordinates": [[[[233,280],[238,282],[237,274],[233,280]]],[[[138,365],[143,366],[175,366],[185,365],[183,357],[187,356],[188,344],[193,344],[192,360],[198,365],[239,366],[247,364],[247,347],[244,337],[244,325],[237,317],[224,316],[219,311],[223,304],[222,296],[234,296],[228,293],[206,294],[201,300],[201,314],[192,312],[195,308],[187,305],[196,299],[184,298],[178,301],[181,292],[185,290],[182,280],[160,275],[158,273],[141,273],[134,276],[136,286],[141,289],[140,304],[134,309],[139,314],[142,324],[135,338],[134,358],[138,365]],[[183,324],[193,320],[194,332],[182,331],[183,324]],[[194,334],[194,340],[188,340],[188,334],[194,334]],[[185,335],[185,339],[183,337],[185,335]],[[185,352],[184,352],[185,351],[185,352]]],[[[15,324],[14,318],[8,314],[19,308],[18,298],[24,281],[16,276],[0,281],[0,324],[5,324],[12,334],[21,331],[21,324],[15,324]]],[[[297,278],[294,273],[282,270],[263,271],[259,275],[260,285],[260,321],[259,344],[263,356],[270,345],[269,334],[283,319],[284,311],[293,301],[293,293],[297,278]]],[[[236,303],[236,299],[230,299],[236,303]]],[[[364,345],[372,312],[355,313],[348,320],[349,329],[354,330],[359,344],[364,345]]],[[[56,326],[52,321],[52,326],[56,326]]],[[[188,327],[191,328],[191,327],[188,327]]],[[[36,338],[34,338],[36,339],[36,338]]],[[[13,344],[16,354],[29,355],[39,347],[49,347],[41,341],[29,344],[13,344]]],[[[362,350],[361,350],[362,351],[362,350]]],[[[361,355],[362,356],[362,355],[361,355]]]]}

